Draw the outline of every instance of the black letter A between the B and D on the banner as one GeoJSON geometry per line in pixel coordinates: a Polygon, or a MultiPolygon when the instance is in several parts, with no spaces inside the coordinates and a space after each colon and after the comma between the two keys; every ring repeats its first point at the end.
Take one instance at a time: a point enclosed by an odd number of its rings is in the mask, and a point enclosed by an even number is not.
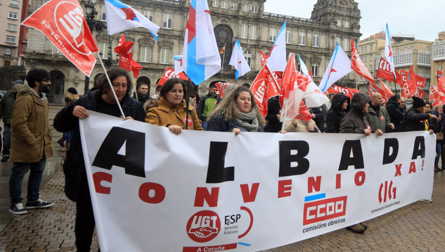
{"type": "Polygon", "coordinates": [[[360,140],[347,140],[345,144],[343,144],[342,159],[340,160],[338,170],[348,170],[348,166],[350,165],[353,165],[355,169],[364,169],[360,140]],[[353,152],[352,157],[351,150],[353,152]]]}

